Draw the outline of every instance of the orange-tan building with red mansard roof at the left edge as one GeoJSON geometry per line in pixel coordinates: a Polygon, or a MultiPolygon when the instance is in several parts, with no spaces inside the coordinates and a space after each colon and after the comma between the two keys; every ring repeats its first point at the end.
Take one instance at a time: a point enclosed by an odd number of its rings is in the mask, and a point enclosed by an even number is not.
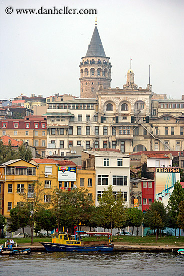
{"type": "Polygon", "coordinates": [[[47,141],[47,119],[39,116],[24,119],[0,120],[0,136],[10,136],[25,144],[36,147],[37,153],[45,156],[47,141]]]}

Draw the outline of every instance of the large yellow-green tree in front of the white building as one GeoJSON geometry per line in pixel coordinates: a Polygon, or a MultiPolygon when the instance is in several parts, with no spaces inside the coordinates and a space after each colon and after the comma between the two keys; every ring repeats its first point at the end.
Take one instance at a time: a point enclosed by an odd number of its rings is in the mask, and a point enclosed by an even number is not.
{"type": "Polygon", "coordinates": [[[101,226],[110,228],[111,233],[113,227],[122,227],[126,221],[125,201],[121,195],[121,190],[117,192],[115,197],[112,185],[109,185],[107,190],[104,190],[102,197],[99,198],[98,208],[101,214],[101,226]]]}

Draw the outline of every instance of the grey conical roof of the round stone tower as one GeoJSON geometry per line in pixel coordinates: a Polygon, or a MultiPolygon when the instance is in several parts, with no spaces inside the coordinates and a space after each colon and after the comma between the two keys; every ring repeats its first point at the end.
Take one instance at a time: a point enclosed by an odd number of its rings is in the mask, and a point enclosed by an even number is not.
{"type": "Polygon", "coordinates": [[[90,44],[88,46],[86,57],[106,57],[105,51],[103,49],[103,45],[100,39],[100,35],[98,33],[98,29],[96,26],[95,26],[90,44]]]}

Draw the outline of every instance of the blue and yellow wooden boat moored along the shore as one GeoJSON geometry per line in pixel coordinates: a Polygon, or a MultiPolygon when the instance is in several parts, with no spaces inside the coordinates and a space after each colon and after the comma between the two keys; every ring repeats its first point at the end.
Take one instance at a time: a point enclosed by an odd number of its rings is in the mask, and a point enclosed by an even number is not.
{"type": "Polygon", "coordinates": [[[110,243],[110,236],[112,233],[108,232],[84,232],[77,231],[75,238],[69,238],[66,233],[55,232],[51,235],[52,242],[40,242],[47,252],[111,252],[114,245],[110,243]],[[81,235],[87,234],[89,236],[107,236],[106,241],[82,241],[81,235]]]}

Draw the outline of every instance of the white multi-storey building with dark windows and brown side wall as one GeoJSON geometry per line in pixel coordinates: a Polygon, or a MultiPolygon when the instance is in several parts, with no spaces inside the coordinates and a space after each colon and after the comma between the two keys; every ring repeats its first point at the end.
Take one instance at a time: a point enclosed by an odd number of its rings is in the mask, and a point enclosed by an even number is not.
{"type": "Polygon", "coordinates": [[[82,151],[82,170],[96,173],[96,206],[104,189],[112,185],[114,196],[121,190],[126,206],[129,207],[130,161],[127,155],[108,151],[82,151]]]}

